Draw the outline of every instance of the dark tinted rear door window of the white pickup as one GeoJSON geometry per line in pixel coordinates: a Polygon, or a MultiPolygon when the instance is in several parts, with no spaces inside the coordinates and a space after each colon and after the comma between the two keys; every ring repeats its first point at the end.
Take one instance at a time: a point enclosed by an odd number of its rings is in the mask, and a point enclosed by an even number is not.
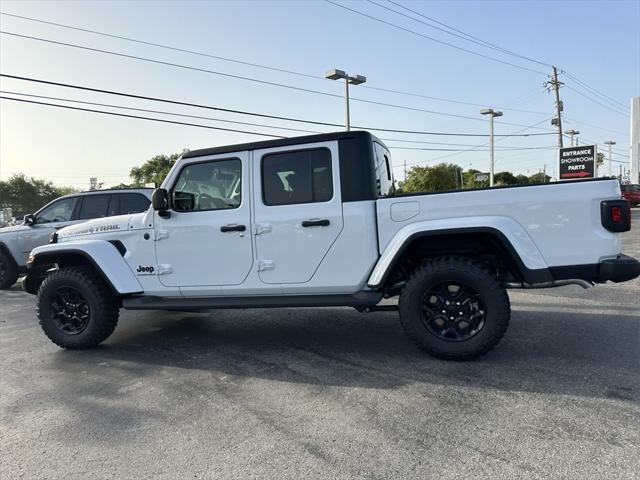
{"type": "Polygon", "coordinates": [[[328,149],[273,153],[262,158],[265,205],[327,202],[332,198],[331,152],[328,149]]]}

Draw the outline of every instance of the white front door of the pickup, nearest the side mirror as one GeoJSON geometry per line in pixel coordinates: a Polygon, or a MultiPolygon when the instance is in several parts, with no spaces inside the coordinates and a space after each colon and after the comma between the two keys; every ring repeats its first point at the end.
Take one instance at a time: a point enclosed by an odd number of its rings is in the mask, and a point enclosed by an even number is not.
{"type": "Polygon", "coordinates": [[[238,285],[253,264],[248,153],[186,164],[170,188],[170,217],[155,213],[160,282],[238,285]]]}

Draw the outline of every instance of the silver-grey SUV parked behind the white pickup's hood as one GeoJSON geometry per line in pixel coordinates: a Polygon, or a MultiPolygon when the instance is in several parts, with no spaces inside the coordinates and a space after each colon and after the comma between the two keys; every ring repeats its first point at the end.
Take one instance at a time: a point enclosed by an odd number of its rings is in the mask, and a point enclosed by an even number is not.
{"type": "Polygon", "coordinates": [[[26,271],[35,247],[49,243],[56,230],[93,218],[144,212],[153,189],[95,190],[60,197],[36,213],[25,215],[22,225],[0,228],[0,288],[11,287],[26,271]]]}

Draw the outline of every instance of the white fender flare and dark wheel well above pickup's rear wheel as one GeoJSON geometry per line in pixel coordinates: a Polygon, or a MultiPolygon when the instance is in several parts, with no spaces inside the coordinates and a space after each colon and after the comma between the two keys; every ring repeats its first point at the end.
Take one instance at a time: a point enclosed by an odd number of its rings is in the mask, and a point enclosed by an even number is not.
{"type": "MultiPolygon", "coordinates": [[[[420,262],[439,255],[495,255],[503,262],[515,279],[527,283],[552,281],[553,277],[533,242],[520,227],[518,240],[520,251],[514,242],[500,228],[494,226],[465,226],[454,228],[402,230],[389,243],[376,264],[368,285],[371,288],[385,288],[390,277],[398,272],[405,262],[420,262]],[[525,235],[525,237],[522,236],[525,235]],[[528,240],[529,242],[526,242],[528,240]],[[525,245],[522,245],[522,244],[525,245]],[[523,260],[521,251],[527,248],[527,260],[538,268],[531,268],[523,260]],[[537,254],[538,258],[533,258],[537,254]],[[533,260],[533,262],[532,262],[533,260]]],[[[511,236],[513,238],[513,235],[511,236]]]]}

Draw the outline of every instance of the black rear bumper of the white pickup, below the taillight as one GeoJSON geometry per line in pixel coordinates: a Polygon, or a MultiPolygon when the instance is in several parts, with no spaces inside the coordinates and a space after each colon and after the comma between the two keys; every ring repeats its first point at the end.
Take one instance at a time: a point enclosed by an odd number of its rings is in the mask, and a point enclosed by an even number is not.
{"type": "Polygon", "coordinates": [[[640,262],[635,258],[620,254],[600,263],[588,265],[566,265],[549,269],[554,280],[580,279],[587,282],[626,282],[640,276],[640,262]]]}

